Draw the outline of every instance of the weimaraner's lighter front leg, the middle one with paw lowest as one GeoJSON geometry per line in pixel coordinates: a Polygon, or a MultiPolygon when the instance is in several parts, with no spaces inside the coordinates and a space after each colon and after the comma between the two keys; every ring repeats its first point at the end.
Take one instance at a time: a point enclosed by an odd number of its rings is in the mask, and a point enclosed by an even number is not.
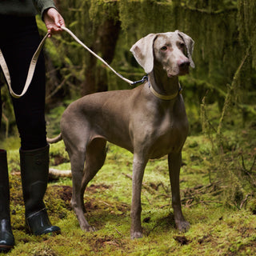
{"type": "Polygon", "coordinates": [[[141,222],[141,192],[142,192],[142,179],[146,166],[146,160],[139,158],[134,154],[133,163],[133,192],[131,203],[131,227],[130,238],[142,238],[142,222],[141,222]]]}

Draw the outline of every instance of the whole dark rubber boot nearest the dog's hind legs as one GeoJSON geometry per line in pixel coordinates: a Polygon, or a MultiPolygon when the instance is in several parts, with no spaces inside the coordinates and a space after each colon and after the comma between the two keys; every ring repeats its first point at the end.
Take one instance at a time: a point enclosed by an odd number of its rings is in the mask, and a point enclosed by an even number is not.
{"type": "Polygon", "coordinates": [[[20,150],[20,160],[26,227],[34,235],[59,234],[60,228],[50,224],[43,202],[49,174],[49,145],[37,150],[20,150]]]}

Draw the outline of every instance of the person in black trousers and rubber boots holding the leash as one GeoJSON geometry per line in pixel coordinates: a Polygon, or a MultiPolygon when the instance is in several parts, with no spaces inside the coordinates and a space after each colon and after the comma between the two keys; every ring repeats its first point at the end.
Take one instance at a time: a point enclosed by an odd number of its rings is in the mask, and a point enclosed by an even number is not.
{"type": "MultiPolygon", "coordinates": [[[[9,68],[11,85],[16,94],[22,92],[30,60],[41,41],[35,20],[37,12],[41,14],[50,35],[62,31],[61,26],[65,26],[65,22],[52,0],[0,1],[0,49],[9,68]]],[[[44,115],[45,94],[46,72],[41,53],[29,90],[22,98],[12,97],[21,138],[19,153],[26,228],[34,235],[60,233],[58,226],[51,225],[43,202],[49,172],[49,145],[46,142],[44,115]]],[[[13,247],[7,158],[6,150],[2,149],[0,150],[0,252],[6,252],[13,247]]]]}

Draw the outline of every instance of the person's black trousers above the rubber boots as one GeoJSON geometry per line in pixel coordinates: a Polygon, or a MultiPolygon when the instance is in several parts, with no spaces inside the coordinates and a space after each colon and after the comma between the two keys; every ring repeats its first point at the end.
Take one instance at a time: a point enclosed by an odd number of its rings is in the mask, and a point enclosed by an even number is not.
{"type": "MultiPolygon", "coordinates": [[[[34,17],[0,15],[0,30],[0,48],[10,71],[11,85],[16,94],[21,94],[30,60],[41,41],[38,27],[34,17]]],[[[22,150],[47,145],[45,94],[45,61],[41,53],[29,90],[22,98],[12,98],[22,150]]]]}

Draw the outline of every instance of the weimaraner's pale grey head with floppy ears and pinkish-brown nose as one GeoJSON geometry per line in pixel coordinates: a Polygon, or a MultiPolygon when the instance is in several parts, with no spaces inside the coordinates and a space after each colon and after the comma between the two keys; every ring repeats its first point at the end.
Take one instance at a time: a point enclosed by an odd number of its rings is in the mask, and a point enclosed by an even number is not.
{"type": "Polygon", "coordinates": [[[153,70],[154,62],[157,62],[170,78],[189,73],[189,66],[194,68],[193,50],[193,39],[178,30],[148,34],[130,48],[146,74],[153,70]]]}

